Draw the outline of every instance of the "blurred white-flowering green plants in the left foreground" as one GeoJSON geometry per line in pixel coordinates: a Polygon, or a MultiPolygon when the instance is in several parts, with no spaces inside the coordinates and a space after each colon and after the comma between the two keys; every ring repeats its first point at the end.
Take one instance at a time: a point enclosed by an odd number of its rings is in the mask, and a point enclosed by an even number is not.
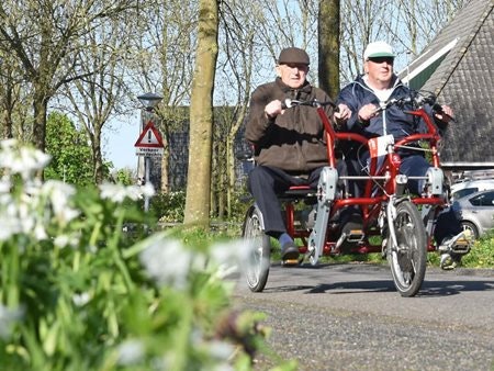
{"type": "Polygon", "coordinates": [[[130,236],[124,225],[150,221],[123,202],[151,189],[43,183],[47,162],[0,145],[2,369],[250,370],[262,316],[233,312],[223,280],[246,246],[130,236]]]}

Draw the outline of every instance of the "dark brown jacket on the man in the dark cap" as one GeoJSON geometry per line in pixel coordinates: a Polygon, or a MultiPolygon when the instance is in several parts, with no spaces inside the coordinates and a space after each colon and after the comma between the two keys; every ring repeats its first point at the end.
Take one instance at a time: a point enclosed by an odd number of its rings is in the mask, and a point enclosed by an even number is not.
{"type": "MultiPolygon", "coordinates": [[[[307,101],[317,99],[329,101],[329,97],[308,82],[300,89],[291,89],[280,78],[258,87],[250,98],[249,117],[245,137],[255,147],[255,158],[259,165],[277,167],[293,175],[307,173],[326,166],[327,150],[324,126],[315,108],[297,105],[284,110],[276,119],[265,115],[265,106],[278,99],[287,98],[307,101]]],[[[326,105],[328,117],[333,116],[330,105],[326,105]]]]}

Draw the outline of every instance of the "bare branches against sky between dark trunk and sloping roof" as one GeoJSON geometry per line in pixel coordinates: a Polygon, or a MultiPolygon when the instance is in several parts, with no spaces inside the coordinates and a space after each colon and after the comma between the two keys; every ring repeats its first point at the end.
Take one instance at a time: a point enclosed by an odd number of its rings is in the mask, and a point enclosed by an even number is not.
{"type": "Polygon", "coordinates": [[[468,0],[345,0],[341,2],[343,83],[361,71],[369,42],[384,40],[397,53],[395,69],[405,68],[468,0]]]}

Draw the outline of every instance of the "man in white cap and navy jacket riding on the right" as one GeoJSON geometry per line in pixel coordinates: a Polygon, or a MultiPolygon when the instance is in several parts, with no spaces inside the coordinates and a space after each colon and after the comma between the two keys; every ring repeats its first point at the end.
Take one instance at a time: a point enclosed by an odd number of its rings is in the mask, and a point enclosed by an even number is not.
{"type": "MultiPolygon", "coordinates": [[[[395,140],[420,132],[424,123],[417,123],[414,116],[403,112],[398,106],[390,106],[383,113],[377,109],[393,98],[409,95],[411,90],[393,72],[395,54],[391,45],[379,41],[370,43],[363,53],[363,75],[350,82],[337,98],[337,103],[346,104],[351,110],[351,116],[347,121],[348,131],[362,134],[367,137],[392,134],[395,140]]],[[[447,128],[452,117],[449,106],[442,105],[442,113],[437,113],[430,106],[426,111],[434,117],[439,131],[447,128]]],[[[368,153],[362,150],[360,144],[349,143],[345,149],[347,167],[350,173],[359,173],[364,170],[368,153]]],[[[413,149],[400,151],[402,164],[400,172],[408,177],[423,177],[430,167],[423,153],[413,149]]],[[[411,192],[420,194],[423,181],[408,180],[411,192]]],[[[441,243],[462,231],[459,221],[451,213],[442,213],[437,221],[435,238],[441,243]]]]}

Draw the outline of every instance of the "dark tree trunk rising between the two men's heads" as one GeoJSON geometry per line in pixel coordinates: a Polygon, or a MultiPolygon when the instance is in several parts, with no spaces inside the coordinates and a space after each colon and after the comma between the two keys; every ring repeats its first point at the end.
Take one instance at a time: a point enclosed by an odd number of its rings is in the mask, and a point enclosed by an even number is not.
{"type": "Polygon", "coordinates": [[[329,97],[339,92],[339,0],[322,0],[318,14],[319,87],[329,97]]]}

